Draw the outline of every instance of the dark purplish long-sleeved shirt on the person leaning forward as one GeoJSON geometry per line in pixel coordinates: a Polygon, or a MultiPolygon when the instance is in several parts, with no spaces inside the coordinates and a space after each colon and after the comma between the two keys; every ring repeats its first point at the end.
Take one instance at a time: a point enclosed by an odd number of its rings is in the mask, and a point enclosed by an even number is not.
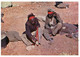
{"type": "Polygon", "coordinates": [[[27,21],[26,24],[25,24],[26,35],[32,41],[35,40],[35,37],[33,37],[33,35],[31,34],[31,32],[36,31],[37,27],[40,27],[38,19],[35,20],[35,24],[34,25],[32,25],[29,21],[27,21]]]}

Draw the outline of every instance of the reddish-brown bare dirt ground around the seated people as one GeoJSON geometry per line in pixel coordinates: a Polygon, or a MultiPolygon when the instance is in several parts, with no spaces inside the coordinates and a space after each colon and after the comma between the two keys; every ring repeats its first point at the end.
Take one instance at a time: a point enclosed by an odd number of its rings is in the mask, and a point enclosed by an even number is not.
{"type": "MultiPolygon", "coordinates": [[[[66,2],[69,4],[67,9],[58,9],[54,7],[54,2],[21,3],[13,2],[19,6],[1,9],[4,13],[4,23],[1,23],[1,30],[17,31],[21,35],[25,31],[25,22],[27,15],[34,13],[36,17],[45,17],[47,9],[52,8],[60,14],[65,23],[78,24],[78,2],[66,2]]],[[[40,22],[43,28],[43,22],[40,22]]],[[[48,44],[43,37],[41,45],[27,51],[22,41],[10,42],[6,48],[1,49],[2,55],[78,55],[78,41],[66,37],[65,35],[56,35],[53,37],[52,45],[48,44]]]]}

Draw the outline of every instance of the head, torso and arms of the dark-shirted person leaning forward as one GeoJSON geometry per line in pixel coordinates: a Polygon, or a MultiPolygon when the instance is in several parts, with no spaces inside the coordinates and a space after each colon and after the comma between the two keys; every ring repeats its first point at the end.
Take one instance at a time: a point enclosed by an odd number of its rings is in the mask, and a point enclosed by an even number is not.
{"type": "Polygon", "coordinates": [[[38,19],[35,17],[33,13],[28,15],[28,20],[25,24],[25,28],[26,31],[23,34],[26,34],[28,40],[30,40],[35,45],[37,39],[31,33],[36,31],[37,28],[40,28],[40,24],[38,22],[38,19]]]}

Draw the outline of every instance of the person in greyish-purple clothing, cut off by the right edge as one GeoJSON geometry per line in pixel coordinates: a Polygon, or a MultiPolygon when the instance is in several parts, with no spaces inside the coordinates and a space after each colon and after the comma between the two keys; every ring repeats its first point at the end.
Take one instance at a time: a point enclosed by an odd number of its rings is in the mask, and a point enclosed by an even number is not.
{"type": "Polygon", "coordinates": [[[60,35],[67,34],[69,38],[78,38],[78,24],[63,23],[60,35]]]}

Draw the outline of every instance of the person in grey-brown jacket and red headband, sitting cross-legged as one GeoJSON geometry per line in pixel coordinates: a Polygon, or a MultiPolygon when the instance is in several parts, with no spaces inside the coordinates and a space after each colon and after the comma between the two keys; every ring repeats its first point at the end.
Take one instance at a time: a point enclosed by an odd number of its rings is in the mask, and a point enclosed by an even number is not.
{"type": "Polygon", "coordinates": [[[46,16],[45,21],[45,29],[43,30],[44,37],[51,41],[53,38],[51,35],[56,35],[58,31],[62,28],[63,21],[61,20],[59,14],[57,14],[54,10],[48,9],[48,14],[46,16]]]}

